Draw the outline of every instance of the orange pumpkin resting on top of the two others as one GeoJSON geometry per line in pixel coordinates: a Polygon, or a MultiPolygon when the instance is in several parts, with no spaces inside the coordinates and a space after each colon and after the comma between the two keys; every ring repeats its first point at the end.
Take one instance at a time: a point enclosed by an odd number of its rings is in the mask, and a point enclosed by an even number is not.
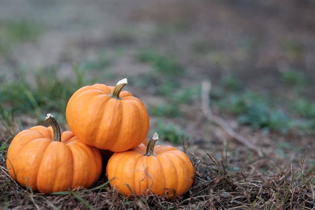
{"type": "Polygon", "coordinates": [[[148,133],[149,116],[142,101],[115,87],[95,84],[78,89],[69,99],[66,119],[70,130],[84,143],[122,152],[137,147],[148,133]]]}

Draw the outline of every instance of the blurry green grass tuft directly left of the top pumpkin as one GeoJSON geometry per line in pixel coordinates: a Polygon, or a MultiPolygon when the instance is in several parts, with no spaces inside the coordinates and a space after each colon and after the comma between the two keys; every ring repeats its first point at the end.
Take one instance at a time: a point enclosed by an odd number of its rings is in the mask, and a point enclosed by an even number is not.
{"type": "MultiPolygon", "coordinates": [[[[54,67],[41,69],[35,75],[35,84],[29,84],[25,78],[15,83],[0,86],[0,100],[9,105],[8,113],[35,115],[43,120],[46,113],[65,113],[65,107],[71,95],[86,82],[83,72],[73,67],[75,78],[59,78],[54,67]]],[[[55,116],[57,119],[57,114],[55,116]]],[[[59,118],[59,120],[64,120],[59,118]]]]}

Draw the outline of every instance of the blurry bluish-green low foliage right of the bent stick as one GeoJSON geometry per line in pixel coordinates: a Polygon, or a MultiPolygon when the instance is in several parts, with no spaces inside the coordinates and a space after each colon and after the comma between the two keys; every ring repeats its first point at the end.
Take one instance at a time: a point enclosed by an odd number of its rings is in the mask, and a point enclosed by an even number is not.
{"type": "MultiPolygon", "coordinates": [[[[291,78],[291,74],[288,78],[291,78]]],[[[298,81],[301,80],[298,79],[298,81]]],[[[292,102],[288,100],[285,106],[282,104],[280,107],[279,101],[269,95],[251,90],[242,91],[238,89],[238,85],[232,85],[232,88],[227,87],[229,86],[224,86],[223,83],[222,87],[212,88],[211,103],[237,115],[240,124],[250,125],[253,129],[280,133],[287,133],[294,129],[309,134],[315,132],[315,120],[312,120],[315,116],[315,104],[311,101],[299,99],[292,102]],[[296,114],[304,118],[294,117],[296,114]]]]}

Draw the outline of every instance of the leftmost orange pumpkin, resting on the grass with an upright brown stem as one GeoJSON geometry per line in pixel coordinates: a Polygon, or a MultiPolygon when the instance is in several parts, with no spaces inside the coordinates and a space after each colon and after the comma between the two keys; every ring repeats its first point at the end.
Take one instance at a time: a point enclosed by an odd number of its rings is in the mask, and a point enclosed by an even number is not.
{"type": "Polygon", "coordinates": [[[69,130],[61,133],[51,114],[45,121],[51,126],[34,126],[14,137],[7,156],[9,174],[22,186],[41,193],[91,187],[102,171],[99,149],[69,130]]]}

